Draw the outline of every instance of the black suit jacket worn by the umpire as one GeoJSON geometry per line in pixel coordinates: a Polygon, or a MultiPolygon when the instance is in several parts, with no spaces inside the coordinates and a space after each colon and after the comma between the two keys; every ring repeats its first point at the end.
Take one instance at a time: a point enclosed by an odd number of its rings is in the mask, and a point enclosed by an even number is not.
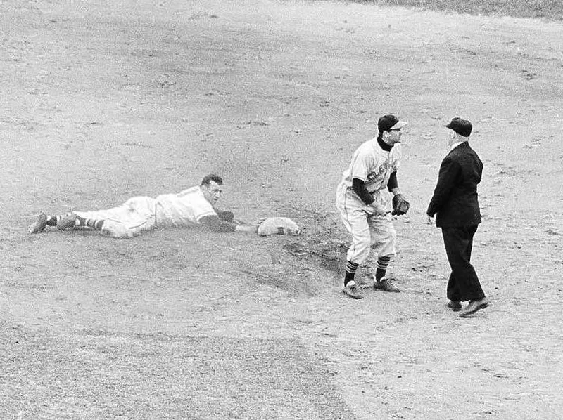
{"type": "Polygon", "coordinates": [[[477,184],[481,182],[483,162],[464,142],[443,159],[438,183],[426,214],[436,214],[438,228],[471,226],[481,223],[477,184]]]}

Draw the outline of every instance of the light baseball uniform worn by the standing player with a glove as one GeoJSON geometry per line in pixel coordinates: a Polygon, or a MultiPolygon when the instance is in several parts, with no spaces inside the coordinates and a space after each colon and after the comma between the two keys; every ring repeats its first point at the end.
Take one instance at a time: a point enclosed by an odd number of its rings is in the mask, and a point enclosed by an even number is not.
{"type": "Polygon", "coordinates": [[[348,261],[362,264],[369,256],[370,249],[378,256],[396,254],[396,231],[390,214],[386,213],[387,183],[391,173],[400,166],[401,145],[396,143],[386,152],[377,143],[377,138],[367,140],[354,152],[349,168],[343,172],[336,190],[336,207],[341,219],[352,235],[348,249],[348,261]],[[375,201],[369,206],[353,191],[352,180],[365,182],[368,192],[375,201]],[[379,211],[378,211],[379,210],[379,211]]]}

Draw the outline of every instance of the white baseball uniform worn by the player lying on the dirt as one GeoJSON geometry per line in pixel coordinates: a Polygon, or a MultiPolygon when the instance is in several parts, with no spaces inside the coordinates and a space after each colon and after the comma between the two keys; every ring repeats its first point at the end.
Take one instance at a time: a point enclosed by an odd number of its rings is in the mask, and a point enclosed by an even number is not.
{"type": "Polygon", "coordinates": [[[104,223],[105,233],[114,237],[132,237],[157,226],[191,225],[204,216],[217,214],[199,187],[178,194],[159,195],[156,199],[132,197],[113,209],[75,213],[82,218],[109,221],[107,227],[104,223]],[[110,226],[112,229],[108,233],[110,226]]]}

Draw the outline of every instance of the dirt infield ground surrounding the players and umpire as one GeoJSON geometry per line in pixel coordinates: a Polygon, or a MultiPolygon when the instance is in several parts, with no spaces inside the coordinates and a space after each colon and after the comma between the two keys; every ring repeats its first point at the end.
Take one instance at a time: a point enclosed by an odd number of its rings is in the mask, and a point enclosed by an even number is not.
{"type": "Polygon", "coordinates": [[[562,29],[336,2],[1,2],[0,418],[561,416],[562,29]],[[410,122],[402,293],[352,301],[335,189],[387,112],[410,122]],[[424,223],[456,115],[485,165],[473,262],[491,298],[463,320],[424,223]],[[303,235],[26,231],[210,172],[222,208],[303,235]]]}

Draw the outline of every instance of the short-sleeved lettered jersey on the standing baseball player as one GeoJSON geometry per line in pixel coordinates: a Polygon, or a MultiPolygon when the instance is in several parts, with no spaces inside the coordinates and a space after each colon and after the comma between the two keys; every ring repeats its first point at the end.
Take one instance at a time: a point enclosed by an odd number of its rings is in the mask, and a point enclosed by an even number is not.
{"type": "Polygon", "coordinates": [[[377,143],[377,138],[367,140],[354,152],[350,166],[342,173],[341,183],[350,188],[352,179],[358,178],[365,182],[371,193],[384,190],[391,173],[399,168],[402,154],[399,143],[386,152],[377,143]]]}

